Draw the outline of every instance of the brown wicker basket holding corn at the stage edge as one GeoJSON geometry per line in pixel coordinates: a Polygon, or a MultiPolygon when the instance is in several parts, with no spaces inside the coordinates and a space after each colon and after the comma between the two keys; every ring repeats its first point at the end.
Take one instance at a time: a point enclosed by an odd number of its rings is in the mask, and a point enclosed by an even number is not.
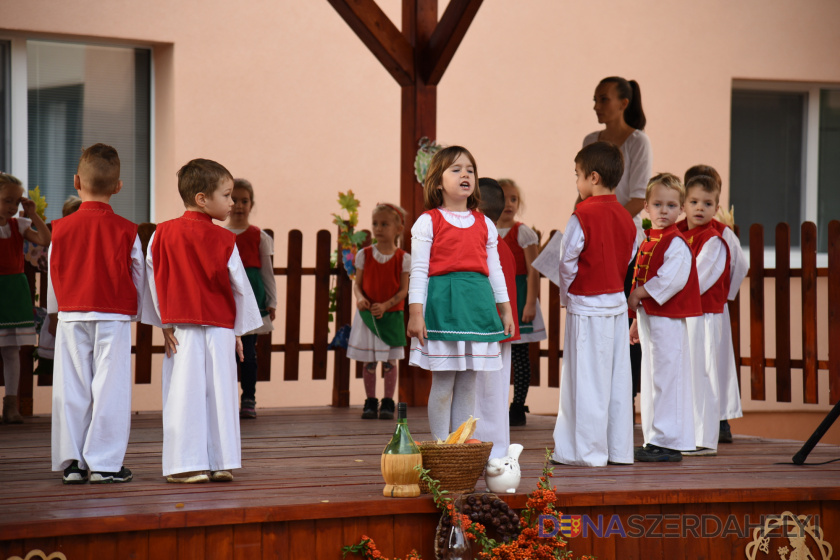
{"type": "MultiPolygon", "coordinates": [[[[484,443],[420,443],[423,455],[423,468],[429,476],[440,481],[441,490],[453,493],[470,493],[475,490],[475,483],[484,471],[484,465],[490,457],[493,442],[484,443]]],[[[420,491],[429,493],[429,486],[420,480],[420,491]]]]}

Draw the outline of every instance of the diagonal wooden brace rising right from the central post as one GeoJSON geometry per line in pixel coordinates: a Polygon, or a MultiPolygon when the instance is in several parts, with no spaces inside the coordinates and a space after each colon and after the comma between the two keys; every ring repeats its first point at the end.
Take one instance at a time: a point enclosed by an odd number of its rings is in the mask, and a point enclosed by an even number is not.
{"type": "Polygon", "coordinates": [[[437,85],[467,34],[482,0],[450,0],[429,38],[421,60],[423,77],[428,85],[437,85]]]}

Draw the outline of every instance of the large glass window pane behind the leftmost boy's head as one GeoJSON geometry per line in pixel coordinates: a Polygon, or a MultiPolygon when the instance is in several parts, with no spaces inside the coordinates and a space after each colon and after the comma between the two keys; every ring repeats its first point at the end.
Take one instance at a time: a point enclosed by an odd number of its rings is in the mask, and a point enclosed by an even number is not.
{"type": "Polygon", "coordinates": [[[110,144],[120,154],[123,189],[114,211],[149,220],[150,80],[148,49],[27,42],[29,188],[41,187],[47,218],[61,217],[75,193],[82,150],[110,144]]]}

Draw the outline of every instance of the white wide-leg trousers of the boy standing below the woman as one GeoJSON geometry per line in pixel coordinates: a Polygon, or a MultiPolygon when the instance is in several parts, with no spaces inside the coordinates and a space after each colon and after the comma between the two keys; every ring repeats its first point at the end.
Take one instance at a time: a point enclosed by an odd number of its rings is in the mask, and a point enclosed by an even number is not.
{"type": "Polygon", "coordinates": [[[627,313],[566,314],[555,461],[590,467],[633,462],[633,380],[627,313]]]}

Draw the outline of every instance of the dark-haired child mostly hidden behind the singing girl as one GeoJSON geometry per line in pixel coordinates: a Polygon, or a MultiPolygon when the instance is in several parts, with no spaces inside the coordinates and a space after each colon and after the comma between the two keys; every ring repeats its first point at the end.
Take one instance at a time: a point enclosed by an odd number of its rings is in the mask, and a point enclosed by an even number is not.
{"type": "MultiPolygon", "coordinates": [[[[505,193],[495,179],[482,177],[478,180],[481,191],[481,210],[493,222],[498,221],[505,208],[505,193]]],[[[510,308],[516,309],[516,258],[505,243],[499,243],[499,263],[505,275],[505,285],[510,296],[510,308]]],[[[492,441],[490,459],[507,456],[510,446],[510,416],[508,414],[508,398],[510,397],[510,353],[511,343],[519,340],[519,324],[514,318],[514,333],[508,339],[502,340],[502,369],[488,371],[476,380],[475,384],[475,412],[473,415],[480,421],[476,424],[474,437],[481,441],[492,441]]]]}

